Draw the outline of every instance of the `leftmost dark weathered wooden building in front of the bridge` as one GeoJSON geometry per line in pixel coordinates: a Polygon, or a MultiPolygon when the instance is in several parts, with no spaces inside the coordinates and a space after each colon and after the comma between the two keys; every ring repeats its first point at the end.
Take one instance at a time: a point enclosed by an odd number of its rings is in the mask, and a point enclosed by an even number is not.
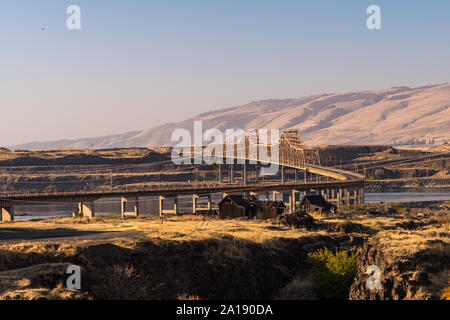
{"type": "Polygon", "coordinates": [[[239,217],[253,218],[258,212],[258,206],[249,199],[239,195],[229,195],[219,202],[219,218],[232,219],[239,217]]]}

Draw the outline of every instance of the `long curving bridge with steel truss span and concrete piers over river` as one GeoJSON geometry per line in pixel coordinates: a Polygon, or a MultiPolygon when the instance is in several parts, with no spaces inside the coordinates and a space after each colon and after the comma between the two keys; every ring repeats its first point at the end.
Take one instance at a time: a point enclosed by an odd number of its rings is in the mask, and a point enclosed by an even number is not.
{"type": "MultiPolygon", "coordinates": [[[[5,193],[0,194],[0,221],[14,220],[14,206],[17,205],[40,205],[48,203],[78,203],[79,212],[83,216],[93,217],[95,215],[94,202],[101,198],[121,198],[121,214],[125,216],[139,216],[139,198],[146,196],[156,196],[159,199],[159,215],[167,213],[179,213],[178,196],[192,195],[192,213],[212,208],[212,194],[222,194],[222,197],[232,194],[244,195],[264,195],[266,200],[275,200],[276,194],[287,195],[289,199],[286,203],[290,213],[294,212],[296,204],[300,201],[301,195],[320,194],[329,202],[340,206],[349,204],[364,203],[364,177],[354,172],[344,171],[335,168],[323,167],[316,150],[303,144],[296,132],[284,132],[279,140],[277,151],[279,157],[273,159],[261,158],[260,153],[252,155],[252,142],[246,141],[243,149],[233,147],[233,158],[241,160],[242,181],[234,182],[234,166],[230,164],[228,172],[229,180],[224,183],[222,166],[218,165],[218,181],[208,184],[166,184],[153,185],[137,188],[118,187],[110,190],[98,191],[75,191],[75,192],[40,192],[40,193],[5,193]],[[258,170],[256,170],[255,180],[249,182],[247,179],[248,165],[252,161],[262,161],[272,163],[280,167],[281,181],[260,181],[258,170]],[[271,162],[272,160],[272,162],[271,162]],[[293,181],[287,181],[285,171],[293,172],[293,181]],[[311,177],[316,177],[316,181],[311,181],[311,177]],[[309,181],[308,181],[309,176],[309,181]],[[302,179],[303,178],[303,179],[302,179]],[[172,198],[173,208],[164,210],[164,201],[172,198]],[[207,198],[206,208],[198,208],[199,198],[207,198]],[[133,210],[127,210],[127,202],[133,204],[133,210]]],[[[265,145],[270,152],[273,152],[274,145],[265,145]]],[[[225,153],[227,146],[223,146],[225,153]]],[[[258,149],[256,149],[258,150],[258,149]]],[[[195,156],[195,155],[194,155],[195,156]]],[[[224,154],[214,154],[214,157],[224,154]]],[[[291,179],[292,180],[292,179],[291,179]]]]}

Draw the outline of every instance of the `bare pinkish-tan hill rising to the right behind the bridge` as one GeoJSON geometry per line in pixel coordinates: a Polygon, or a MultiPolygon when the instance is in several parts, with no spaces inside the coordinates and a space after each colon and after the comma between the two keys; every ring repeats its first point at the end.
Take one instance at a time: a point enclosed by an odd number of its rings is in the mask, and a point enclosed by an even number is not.
{"type": "Polygon", "coordinates": [[[173,144],[176,128],[298,129],[309,145],[442,144],[450,141],[450,84],[272,99],[200,114],[145,131],[79,140],[32,142],[13,149],[154,147],[173,144]]]}

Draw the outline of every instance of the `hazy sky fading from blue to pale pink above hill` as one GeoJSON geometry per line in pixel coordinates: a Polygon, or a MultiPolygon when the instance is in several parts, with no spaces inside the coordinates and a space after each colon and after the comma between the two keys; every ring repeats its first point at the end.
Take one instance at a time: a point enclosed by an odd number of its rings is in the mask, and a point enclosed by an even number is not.
{"type": "Polygon", "coordinates": [[[450,1],[1,0],[0,74],[0,145],[142,130],[267,98],[444,83],[450,1]],[[71,4],[81,30],[66,28],[71,4]],[[370,4],[382,30],[366,28],[370,4]]]}

